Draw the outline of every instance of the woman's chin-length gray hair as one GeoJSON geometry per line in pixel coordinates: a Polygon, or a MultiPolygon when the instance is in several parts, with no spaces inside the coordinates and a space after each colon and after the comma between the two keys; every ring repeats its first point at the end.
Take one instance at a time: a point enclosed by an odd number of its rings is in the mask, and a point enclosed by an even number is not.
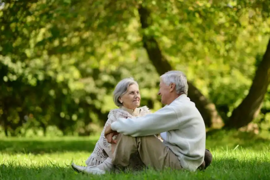
{"type": "Polygon", "coordinates": [[[139,87],[138,82],[132,77],[122,79],[118,82],[113,91],[113,102],[116,106],[122,107],[122,103],[120,103],[119,98],[122,97],[127,92],[128,87],[133,84],[136,84],[139,87]]]}

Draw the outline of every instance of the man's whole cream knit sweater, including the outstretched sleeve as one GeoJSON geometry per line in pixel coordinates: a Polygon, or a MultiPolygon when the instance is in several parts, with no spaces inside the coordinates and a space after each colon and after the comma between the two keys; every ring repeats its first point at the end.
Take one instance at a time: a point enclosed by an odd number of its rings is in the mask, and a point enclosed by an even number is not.
{"type": "Polygon", "coordinates": [[[155,113],[132,119],[119,118],[111,128],[132,137],[166,132],[162,134],[163,143],[178,157],[184,169],[195,171],[204,160],[205,124],[195,104],[185,94],[155,113]]]}

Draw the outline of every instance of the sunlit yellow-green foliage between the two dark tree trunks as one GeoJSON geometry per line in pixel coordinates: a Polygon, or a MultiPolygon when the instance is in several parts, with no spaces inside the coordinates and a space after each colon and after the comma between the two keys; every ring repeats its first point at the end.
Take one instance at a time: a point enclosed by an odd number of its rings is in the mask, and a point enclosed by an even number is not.
{"type": "Polygon", "coordinates": [[[247,95],[256,56],[265,52],[270,20],[249,6],[187,2],[157,4],[160,13],[153,13],[157,23],[152,28],[155,35],[159,31],[171,64],[186,72],[226,121],[247,95]]]}

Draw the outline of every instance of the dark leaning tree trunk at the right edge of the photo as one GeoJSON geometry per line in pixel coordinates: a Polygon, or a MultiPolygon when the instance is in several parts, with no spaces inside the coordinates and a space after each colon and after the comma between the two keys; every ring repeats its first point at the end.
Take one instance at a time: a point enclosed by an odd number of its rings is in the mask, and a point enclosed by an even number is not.
{"type": "Polygon", "coordinates": [[[224,128],[241,128],[248,125],[258,114],[261,109],[261,104],[267,93],[267,88],[270,83],[270,39],[263,55],[262,61],[259,64],[249,93],[241,104],[232,111],[232,116],[226,123],[224,128]]]}

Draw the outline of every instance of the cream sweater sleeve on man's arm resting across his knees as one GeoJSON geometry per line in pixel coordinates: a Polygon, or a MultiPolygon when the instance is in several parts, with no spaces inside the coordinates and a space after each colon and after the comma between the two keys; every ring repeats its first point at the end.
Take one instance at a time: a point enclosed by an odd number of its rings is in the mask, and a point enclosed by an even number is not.
{"type": "Polygon", "coordinates": [[[137,118],[119,118],[111,124],[113,131],[133,137],[149,136],[179,128],[176,112],[166,106],[152,114],[137,118]]]}

